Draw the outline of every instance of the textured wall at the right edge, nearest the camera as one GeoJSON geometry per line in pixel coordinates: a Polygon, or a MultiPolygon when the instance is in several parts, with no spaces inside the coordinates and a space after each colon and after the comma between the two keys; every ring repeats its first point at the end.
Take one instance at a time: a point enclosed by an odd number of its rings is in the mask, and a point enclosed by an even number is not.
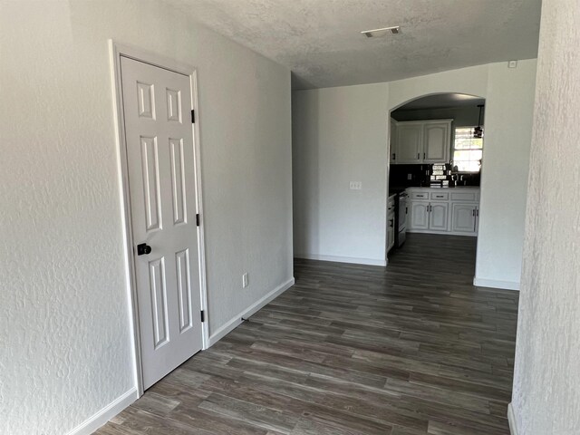
{"type": "Polygon", "coordinates": [[[512,396],[519,435],[580,433],[580,9],[545,0],[512,396]]]}

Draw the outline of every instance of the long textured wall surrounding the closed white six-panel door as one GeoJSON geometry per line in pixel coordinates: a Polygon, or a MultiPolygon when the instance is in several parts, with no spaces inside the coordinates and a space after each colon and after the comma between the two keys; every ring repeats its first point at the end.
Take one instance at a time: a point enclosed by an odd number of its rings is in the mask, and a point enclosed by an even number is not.
{"type": "Polygon", "coordinates": [[[287,69],[160,2],[0,0],[2,434],[135,386],[108,38],[198,67],[210,330],[292,275],[287,69]]]}

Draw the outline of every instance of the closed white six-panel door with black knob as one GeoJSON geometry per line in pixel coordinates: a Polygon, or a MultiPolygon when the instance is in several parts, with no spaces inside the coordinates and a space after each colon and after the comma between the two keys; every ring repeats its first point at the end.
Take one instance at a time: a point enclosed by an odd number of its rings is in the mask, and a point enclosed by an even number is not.
{"type": "Polygon", "coordinates": [[[147,389],[203,343],[191,85],[126,57],[121,82],[147,389]]]}

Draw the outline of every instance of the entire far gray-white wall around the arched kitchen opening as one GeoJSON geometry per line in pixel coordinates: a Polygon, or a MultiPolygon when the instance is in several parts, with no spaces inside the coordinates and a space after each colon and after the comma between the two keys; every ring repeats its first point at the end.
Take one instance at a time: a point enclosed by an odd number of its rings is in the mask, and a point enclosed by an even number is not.
{"type": "Polygon", "coordinates": [[[536,61],[293,94],[295,253],[385,260],[389,111],[443,92],[486,98],[478,285],[518,288],[536,61]],[[362,180],[350,190],[349,180],[362,180]]]}

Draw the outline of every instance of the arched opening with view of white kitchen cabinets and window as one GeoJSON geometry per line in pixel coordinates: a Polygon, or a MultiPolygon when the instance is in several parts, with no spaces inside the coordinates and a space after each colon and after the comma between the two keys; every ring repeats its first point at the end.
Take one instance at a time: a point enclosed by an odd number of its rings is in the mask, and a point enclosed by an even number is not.
{"type": "Polygon", "coordinates": [[[463,93],[424,95],[390,111],[387,256],[413,234],[472,237],[465,241],[475,252],[484,125],[485,99],[463,93]]]}

